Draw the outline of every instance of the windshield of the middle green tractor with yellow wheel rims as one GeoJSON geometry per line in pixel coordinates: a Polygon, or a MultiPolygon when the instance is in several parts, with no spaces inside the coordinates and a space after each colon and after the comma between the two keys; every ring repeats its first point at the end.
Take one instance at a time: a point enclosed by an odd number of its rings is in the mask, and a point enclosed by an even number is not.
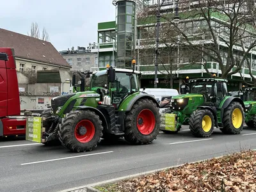
{"type": "Polygon", "coordinates": [[[212,93],[212,82],[196,81],[190,85],[190,93],[209,94],[212,93]]]}

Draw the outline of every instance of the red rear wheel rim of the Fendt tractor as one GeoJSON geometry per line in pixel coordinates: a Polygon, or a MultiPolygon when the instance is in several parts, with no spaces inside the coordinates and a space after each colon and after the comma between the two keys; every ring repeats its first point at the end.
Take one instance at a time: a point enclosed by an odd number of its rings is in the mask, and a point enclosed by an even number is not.
{"type": "Polygon", "coordinates": [[[137,117],[137,128],[141,134],[150,134],[156,125],[156,118],[152,111],[143,109],[137,117]]]}

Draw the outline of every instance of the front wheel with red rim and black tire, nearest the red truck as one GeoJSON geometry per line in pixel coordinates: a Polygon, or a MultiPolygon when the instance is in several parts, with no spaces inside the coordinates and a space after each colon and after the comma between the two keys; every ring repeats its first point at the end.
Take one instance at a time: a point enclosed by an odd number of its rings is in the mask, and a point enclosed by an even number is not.
{"type": "Polygon", "coordinates": [[[71,111],[60,129],[60,140],[72,152],[90,151],[102,136],[102,121],[90,110],[71,111]]]}

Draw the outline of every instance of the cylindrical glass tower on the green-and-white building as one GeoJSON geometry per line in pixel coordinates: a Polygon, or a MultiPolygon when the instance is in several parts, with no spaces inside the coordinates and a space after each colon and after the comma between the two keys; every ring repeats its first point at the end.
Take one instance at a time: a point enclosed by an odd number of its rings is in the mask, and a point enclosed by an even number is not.
{"type": "Polygon", "coordinates": [[[134,1],[116,3],[116,67],[131,68],[135,56],[134,43],[134,1]]]}

